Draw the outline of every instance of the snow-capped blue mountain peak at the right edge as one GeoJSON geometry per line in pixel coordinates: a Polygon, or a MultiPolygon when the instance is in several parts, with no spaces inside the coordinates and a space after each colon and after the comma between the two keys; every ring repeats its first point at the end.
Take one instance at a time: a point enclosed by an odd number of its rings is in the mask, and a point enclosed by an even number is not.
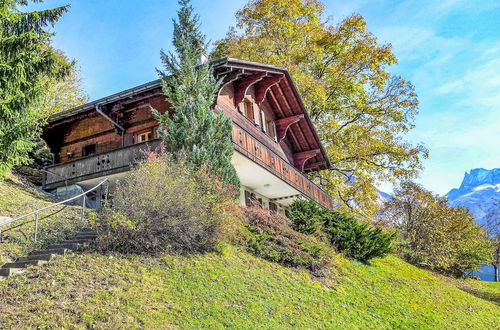
{"type": "Polygon", "coordinates": [[[484,224],[485,216],[494,207],[499,207],[500,168],[476,168],[466,172],[460,188],[450,190],[446,197],[452,206],[467,207],[476,221],[484,224]]]}

